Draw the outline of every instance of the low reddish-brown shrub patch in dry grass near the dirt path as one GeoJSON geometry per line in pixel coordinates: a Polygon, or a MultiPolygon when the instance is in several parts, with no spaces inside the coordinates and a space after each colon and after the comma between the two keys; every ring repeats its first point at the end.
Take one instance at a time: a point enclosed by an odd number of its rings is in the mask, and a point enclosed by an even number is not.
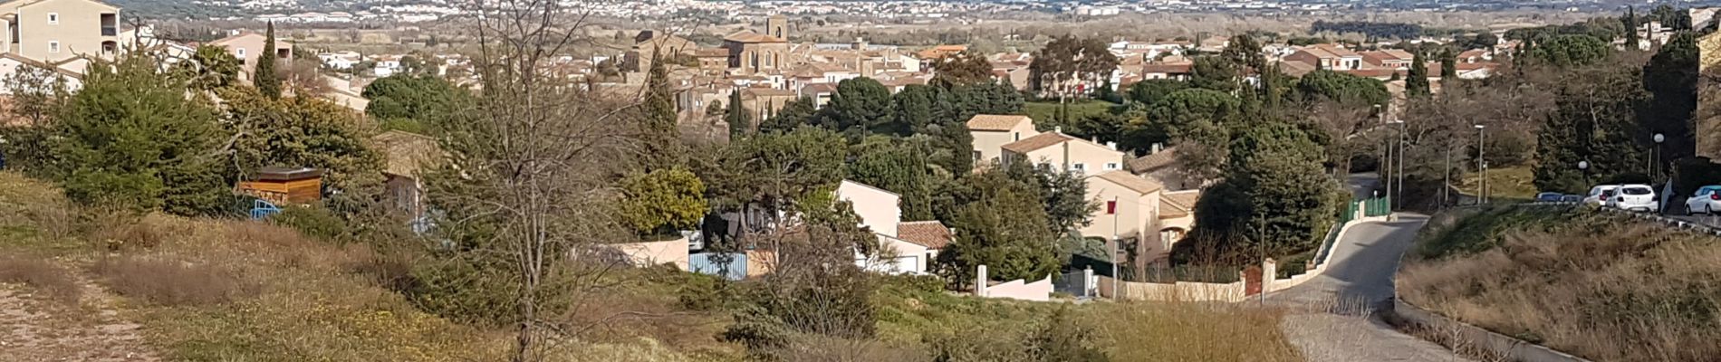
{"type": "Polygon", "coordinates": [[[225,304],[256,293],[232,273],[207,264],[110,257],[91,271],[115,293],[160,305],[225,304]]]}

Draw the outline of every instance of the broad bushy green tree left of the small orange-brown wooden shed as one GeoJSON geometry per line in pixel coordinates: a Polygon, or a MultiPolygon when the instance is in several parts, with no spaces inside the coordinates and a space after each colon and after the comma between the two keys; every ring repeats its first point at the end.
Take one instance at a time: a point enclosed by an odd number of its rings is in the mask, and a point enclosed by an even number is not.
{"type": "Polygon", "coordinates": [[[139,53],[96,63],[60,106],[53,170],[69,199],[176,214],[229,206],[215,112],[186,96],[188,79],[158,70],[139,53]]]}

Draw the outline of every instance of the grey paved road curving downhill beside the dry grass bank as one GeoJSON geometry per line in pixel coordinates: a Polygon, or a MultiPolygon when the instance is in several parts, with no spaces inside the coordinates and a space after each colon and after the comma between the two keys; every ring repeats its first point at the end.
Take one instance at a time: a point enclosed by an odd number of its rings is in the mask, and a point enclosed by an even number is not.
{"type": "Polygon", "coordinates": [[[1361,223],[1344,233],[1327,271],[1308,283],[1267,295],[1291,311],[1280,328],[1303,357],[1318,362],[1468,360],[1451,350],[1397,333],[1372,317],[1372,305],[1392,299],[1399,256],[1427,223],[1422,214],[1361,223]]]}

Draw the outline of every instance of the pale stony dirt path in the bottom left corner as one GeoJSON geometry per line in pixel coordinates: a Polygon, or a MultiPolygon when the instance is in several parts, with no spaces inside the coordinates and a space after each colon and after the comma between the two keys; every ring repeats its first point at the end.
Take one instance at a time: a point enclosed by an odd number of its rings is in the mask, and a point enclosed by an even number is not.
{"type": "Polygon", "coordinates": [[[0,355],[7,360],[133,362],[160,360],[136,323],[115,300],[84,283],[79,305],[52,300],[36,290],[0,283],[0,355]]]}

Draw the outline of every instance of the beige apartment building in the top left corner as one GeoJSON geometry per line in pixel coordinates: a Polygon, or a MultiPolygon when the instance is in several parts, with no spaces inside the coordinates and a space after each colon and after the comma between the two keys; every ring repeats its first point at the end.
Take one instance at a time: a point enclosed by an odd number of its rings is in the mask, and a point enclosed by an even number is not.
{"type": "Polygon", "coordinates": [[[9,33],[0,48],[29,60],[60,63],[119,51],[119,7],[103,2],[12,0],[0,3],[0,24],[9,33]]]}

